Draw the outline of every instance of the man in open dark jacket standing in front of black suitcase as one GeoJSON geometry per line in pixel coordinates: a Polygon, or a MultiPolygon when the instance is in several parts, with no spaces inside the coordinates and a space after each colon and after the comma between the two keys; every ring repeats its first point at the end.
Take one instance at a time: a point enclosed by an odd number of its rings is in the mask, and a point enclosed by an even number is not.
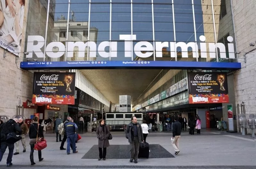
{"type": "Polygon", "coordinates": [[[134,163],[138,163],[140,142],[144,141],[141,125],[137,122],[137,118],[135,116],[132,116],[131,123],[127,125],[127,128],[125,130],[125,137],[128,139],[128,142],[130,143],[130,162],[132,163],[134,159],[134,163]]]}

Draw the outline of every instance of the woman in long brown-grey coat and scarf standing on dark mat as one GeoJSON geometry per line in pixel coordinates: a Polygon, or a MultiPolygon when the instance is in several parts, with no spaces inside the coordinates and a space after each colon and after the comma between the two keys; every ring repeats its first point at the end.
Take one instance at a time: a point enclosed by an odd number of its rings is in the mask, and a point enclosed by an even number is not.
{"type": "Polygon", "coordinates": [[[105,121],[103,119],[100,119],[100,125],[97,127],[97,138],[98,141],[98,147],[99,147],[99,161],[103,158],[103,160],[106,160],[106,154],[107,154],[107,147],[109,147],[108,142],[108,136],[109,136],[109,129],[108,126],[105,125],[105,121]],[[103,148],[103,152],[102,152],[103,148]]]}

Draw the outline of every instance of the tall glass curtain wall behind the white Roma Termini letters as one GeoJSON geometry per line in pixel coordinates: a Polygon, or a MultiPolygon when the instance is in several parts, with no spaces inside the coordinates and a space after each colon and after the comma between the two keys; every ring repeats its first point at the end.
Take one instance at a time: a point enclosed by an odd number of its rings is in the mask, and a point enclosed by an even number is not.
{"type": "Polygon", "coordinates": [[[47,11],[47,0],[29,2],[25,51],[38,61],[235,57],[226,0],[50,0],[47,11]]]}

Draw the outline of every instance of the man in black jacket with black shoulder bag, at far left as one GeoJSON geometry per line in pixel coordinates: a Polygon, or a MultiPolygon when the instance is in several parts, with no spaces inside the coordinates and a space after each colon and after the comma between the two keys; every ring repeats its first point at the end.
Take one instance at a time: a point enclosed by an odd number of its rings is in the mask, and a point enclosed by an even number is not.
{"type": "Polygon", "coordinates": [[[17,137],[21,134],[22,130],[20,129],[18,123],[18,119],[10,119],[8,122],[5,122],[1,125],[0,131],[1,131],[1,148],[0,148],[0,161],[2,161],[4,152],[8,146],[9,148],[9,154],[7,157],[7,167],[12,165],[12,155],[14,150],[14,143],[10,143],[7,139],[7,136],[10,133],[16,133],[17,137]]]}

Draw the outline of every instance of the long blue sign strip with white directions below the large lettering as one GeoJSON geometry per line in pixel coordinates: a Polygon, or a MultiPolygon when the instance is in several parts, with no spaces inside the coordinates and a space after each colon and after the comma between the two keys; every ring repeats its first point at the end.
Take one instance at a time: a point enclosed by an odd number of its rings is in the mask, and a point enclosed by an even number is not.
{"type": "Polygon", "coordinates": [[[241,63],[195,61],[62,61],[21,62],[24,70],[39,69],[204,69],[237,70],[241,63]]]}

